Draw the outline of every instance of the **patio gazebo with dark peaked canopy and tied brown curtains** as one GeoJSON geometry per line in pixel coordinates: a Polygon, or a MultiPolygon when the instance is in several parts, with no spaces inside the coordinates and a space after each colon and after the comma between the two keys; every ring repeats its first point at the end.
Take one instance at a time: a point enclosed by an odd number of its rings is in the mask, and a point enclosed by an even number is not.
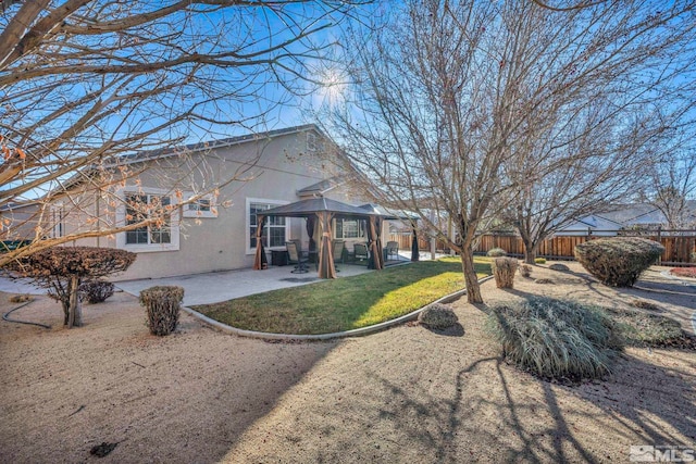
{"type": "Polygon", "coordinates": [[[331,200],[328,198],[312,198],[300,200],[295,203],[285,204],[283,206],[273,208],[257,214],[257,252],[253,262],[254,269],[264,269],[268,267],[265,252],[263,250],[263,225],[266,217],[284,216],[284,217],[304,217],[307,220],[307,234],[310,237],[309,249],[315,250],[314,228],[320,227],[320,246],[319,246],[319,277],[336,278],[336,268],[334,267],[332,229],[331,222],[334,218],[360,218],[368,221],[368,247],[372,259],[370,265],[374,269],[384,267],[384,258],[382,255],[382,224],[384,220],[399,218],[386,212],[381,212],[374,205],[353,206],[340,201],[331,200]]]}

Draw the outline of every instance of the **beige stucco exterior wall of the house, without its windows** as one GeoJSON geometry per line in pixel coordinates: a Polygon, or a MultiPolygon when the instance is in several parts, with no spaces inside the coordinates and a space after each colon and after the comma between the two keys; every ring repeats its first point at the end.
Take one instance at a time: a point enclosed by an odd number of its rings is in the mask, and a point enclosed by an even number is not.
{"type": "MultiPolygon", "coordinates": [[[[250,203],[279,205],[295,202],[301,199],[299,190],[340,174],[337,164],[331,161],[331,153],[323,151],[332,146],[309,128],[206,148],[184,155],[133,160],[125,184],[116,188],[117,197],[124,199],[127,193],[145,192],[170,196],[176,202],[176,191],[187,197],[223,185],[216,199],[216,217],[187,217],[184,209],[177,208],[173,214],[173,238],[166,246],[127,244],[125,233],[80,239],[66,246],[111,247],[136,252],[138,258],[130,268],[111,278],[115,281],[249,268],[253,265],[256,251],[250,247],[250,203]],[[315,150],[308,148],[308,131],[313,133],[315,150]]],[[[332,188],[324,195],[351,204],[370,201],[346,185],[332,188]]],[[[79,198],[78,208],[71,210],[65,205],[62,213],[63,236],[76,230],[103,230],[125,225],[123,201],[114,201],[95,191],[72,196],[72,201],[75,198],[79,198]],[[95,222],[95,217],[99,221],[95,222]]],[[[286,239],[300,239],[302,249],[307,250],[306,221],[286,221],[286,239]]],[[[383,243],[386,243],[387,228],[385,222],[383,243]]],[[[319,227],[315,228],[315,239],[319,239],[319,227]]],[[[285,247],[278,249],[284,250],[285,247]]],[[[348,249],[352,249],[351,243],[348,249]]],[[[266,252],[270,262],[270,250],[266,252]]]]}

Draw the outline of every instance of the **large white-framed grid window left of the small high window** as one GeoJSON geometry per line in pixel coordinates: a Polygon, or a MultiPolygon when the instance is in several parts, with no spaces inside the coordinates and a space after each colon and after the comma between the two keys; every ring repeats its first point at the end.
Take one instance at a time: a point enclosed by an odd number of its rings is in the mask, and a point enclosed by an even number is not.
{"type": "Polygon", "coordinates": [[[147,220],[153,223],[116,236],[116,247],[132,251],[178,250],[178,217],[171,195],[160,191],[124,192],[119,209],[121,224],[126,226],[147,220]]]}

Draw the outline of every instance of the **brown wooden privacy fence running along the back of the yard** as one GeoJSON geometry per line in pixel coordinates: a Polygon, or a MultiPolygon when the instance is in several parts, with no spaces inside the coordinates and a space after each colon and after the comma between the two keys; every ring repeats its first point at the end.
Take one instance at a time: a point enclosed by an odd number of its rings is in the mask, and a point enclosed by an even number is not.
{"type": "MultiPolygon", "coordinates": [[[[695,266],[696,265],[696,230],[593,230],[586,235],[556,236],[546,239],[539,246],[538,256],[550,260],[574,260],[574,249],[576,244],[587,240],[607,236],[643,237],[658,241],[664,247],[664,252],[660,258],[660,264],[666,266],[695,266]]],[[[411,247],[410,234],[391,234],[390,240],[399,242],[399,249],[411,247]]],[[[446,250],[445,243],[437,242],[436,250],[446,250]]],[[[515,235],[488,234],[481,237],[478,246],[474,248],[474,253],[485,254],[492,248],[501,248],[512,256],[524,256],[524,243],[515,235]]],[[[419,249],[428,251],[431,249],[427,237],[419,237],[419,249]]]]}

